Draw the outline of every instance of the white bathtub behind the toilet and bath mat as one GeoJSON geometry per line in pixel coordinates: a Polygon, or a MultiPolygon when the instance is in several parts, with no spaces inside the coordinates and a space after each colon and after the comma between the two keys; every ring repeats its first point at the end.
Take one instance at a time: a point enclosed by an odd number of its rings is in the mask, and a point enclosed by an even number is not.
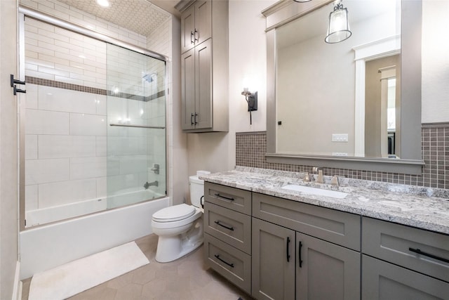
{"type": "MultiPolygon", "coordinates": [[[[109,206],[108,201],[116,203],[119,200],[129,200],[131,202],[128,193],[136,193],[136,191],[130,190],[122,195],[113,195],[106,201],[91,200],[91,205],[88,200],[80,204],[79,209],[86,209],[86,207],[98,209],[95,206],[98,203],[95,201],[103,202],[101,205],[106,206],[109,206]]],[[[138,190],[138,193],[141,193],[142,197],[147,197],[149,190],[138,190]]],[[[152,214],[168,205],[170,205],[170,198],[161,197],[23,230],[20,232],[20,280],[151,234],[152,214]]],[[[70,210],[65,206],[53,209],[70,210]]],[[[69,214],[67,211],[66,213],[69,214]]],[[[39,216],[36,211],[34,213],[34,217],[39,216]]],[[[51,215],[51,209],[42,211],[41,216],[49,215],[51,215]]]]}

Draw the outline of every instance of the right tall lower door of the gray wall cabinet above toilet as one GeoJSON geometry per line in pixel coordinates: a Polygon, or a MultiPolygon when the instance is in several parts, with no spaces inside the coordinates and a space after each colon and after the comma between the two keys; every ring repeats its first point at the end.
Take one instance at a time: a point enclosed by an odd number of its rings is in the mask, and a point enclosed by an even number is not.
{"type": "Polygon", "coordinates": [[[212,39],[195,47],[195,129],[212,127],[212,39]]]}

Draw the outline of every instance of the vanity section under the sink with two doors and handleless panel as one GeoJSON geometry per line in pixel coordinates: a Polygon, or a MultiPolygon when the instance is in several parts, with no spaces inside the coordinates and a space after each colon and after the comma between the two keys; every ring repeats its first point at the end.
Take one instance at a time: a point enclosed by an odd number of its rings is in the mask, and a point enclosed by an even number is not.
{"type": "Polygon", "coordinates": [[[252,295],[359,299],[360,232],[360,216],[253,193],[252,295]]]}

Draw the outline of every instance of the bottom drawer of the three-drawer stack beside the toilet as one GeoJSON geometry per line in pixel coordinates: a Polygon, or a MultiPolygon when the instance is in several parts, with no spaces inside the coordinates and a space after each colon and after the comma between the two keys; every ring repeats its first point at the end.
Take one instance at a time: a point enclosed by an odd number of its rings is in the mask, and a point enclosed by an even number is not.
{"type": "Polygon", "coordinates": [[[227,280],[251,293],[251,256],[229,246],[215,237],[204,234],[205,261],[227,280]]]}

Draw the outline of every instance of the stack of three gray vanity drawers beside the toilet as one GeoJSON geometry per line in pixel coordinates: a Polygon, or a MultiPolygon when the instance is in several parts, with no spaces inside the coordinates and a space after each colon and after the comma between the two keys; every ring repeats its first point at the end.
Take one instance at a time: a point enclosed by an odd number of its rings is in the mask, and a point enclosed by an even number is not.
{"type": "Polygon", "coordinates": [[[206,264],[251,293],[251,192],[204,183],[206,264]]]}

